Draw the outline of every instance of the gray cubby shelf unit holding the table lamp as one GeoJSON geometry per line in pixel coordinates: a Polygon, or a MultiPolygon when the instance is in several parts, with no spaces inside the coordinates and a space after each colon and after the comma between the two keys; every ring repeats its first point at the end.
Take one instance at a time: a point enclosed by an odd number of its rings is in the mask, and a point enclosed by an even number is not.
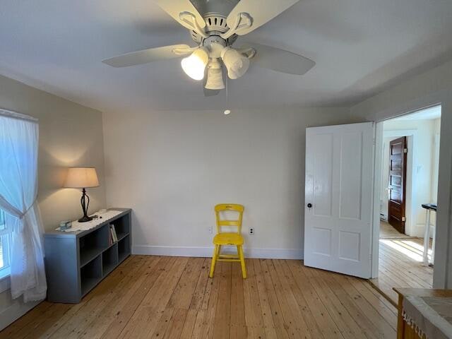
{"type": "Polygon", "coordinates": [[[77,303],[131,254],[131,210],[86,231],[44,234],[47,299],[49,302],[77,303]],[[109,245],[109,225],[118,241],[109,245]]]}

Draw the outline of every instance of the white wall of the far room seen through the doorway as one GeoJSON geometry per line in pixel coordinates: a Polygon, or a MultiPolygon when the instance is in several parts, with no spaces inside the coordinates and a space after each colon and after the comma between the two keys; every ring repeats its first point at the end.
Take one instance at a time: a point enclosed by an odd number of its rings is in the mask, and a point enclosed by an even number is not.
{"type": "MultiPolygon", "coordinates": [[[[412,159],[414,164],[407,164],[407,227],[405,233],[412,237],[422,237],[425,226],[425,209],[421,207],[422,203],[436,203],[436,195],[434,194],[434,183],[438,182],[438,172],[434,171],[434,150],[435,150],[435,133],[437,119],[420,119],[420,120],[388,120],[384,121],[383,132],[385,135],[394,133],[397,136],[385,137],[383,148],[383,181],[381,213],[388,213],[388,179],[389,179],[389,142],[393,139],[400,138],[400,133],[407,131],[405,136],[415,139],[412,147],[408,148],[408,159],[412,159]],[[412,136],[411,133],[415,133],[412,136]],[[414,171],[412,171],[414,169],[414,171]],[[414,185],[411,186],[411,176],[414,178],[414,185]],[[408,197],[409,195],[409,197],[408,197]],[[410,210],[410,203],[413,210],[410,210]]],[[[439,120],[439,119],[438,119],[439,120]]],[[[434,214],[434,213],[433,213],[434,214]]],[[[434,221],[434,219],[432,219],[434,221]]],[[[434,223],[432,223],[434,225],[434,223]]]]}

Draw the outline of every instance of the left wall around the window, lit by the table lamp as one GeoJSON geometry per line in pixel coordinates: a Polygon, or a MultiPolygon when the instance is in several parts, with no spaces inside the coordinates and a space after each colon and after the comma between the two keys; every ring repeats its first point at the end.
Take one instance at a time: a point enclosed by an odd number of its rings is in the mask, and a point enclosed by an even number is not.
{"type": "MultiPolygon", "coordinates": [[[[69,166],[94,166],[101,186],[89,189],[90,210],[105,206],[102,114],[18,81],[0,76],[0,108],[39,119],[39,191],[42,221],[46,230],[60,220],[81,216],[80,191],[61,189],[69,166]]],[[[8,286],[0,281],[0,291],[8,286]]],[[[11,300],[9,290],[0,293],[0,329],[28,311],[34,303],[11,300]]]]}

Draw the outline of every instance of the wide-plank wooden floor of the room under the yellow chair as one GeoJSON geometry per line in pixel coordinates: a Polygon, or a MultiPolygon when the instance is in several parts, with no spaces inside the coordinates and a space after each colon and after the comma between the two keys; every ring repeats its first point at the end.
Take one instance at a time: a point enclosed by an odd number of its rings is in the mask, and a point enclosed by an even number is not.
{"type": "Polygon", "coordinates": [[[80,304],[42,302],[0,338],[396,338],[396,308],[366,280],[300,261],[132,256],[80,304]]]}

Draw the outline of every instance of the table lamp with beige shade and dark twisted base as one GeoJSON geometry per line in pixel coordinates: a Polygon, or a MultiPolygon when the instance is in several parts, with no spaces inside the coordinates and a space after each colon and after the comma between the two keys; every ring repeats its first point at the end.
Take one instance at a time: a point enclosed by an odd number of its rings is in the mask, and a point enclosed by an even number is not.
{"type": "Polygon", "coordinates": [[[99,180],[97,179],[97,173],[94,167],[69,167],[64,187],[69,189],[82,189],[81,205],[83,217],[78,219],[78,222],[93,220],[93,218],[88,216],[90,197],[86,195],[85,189],[97,186],[99,186],[99,180]]]}

